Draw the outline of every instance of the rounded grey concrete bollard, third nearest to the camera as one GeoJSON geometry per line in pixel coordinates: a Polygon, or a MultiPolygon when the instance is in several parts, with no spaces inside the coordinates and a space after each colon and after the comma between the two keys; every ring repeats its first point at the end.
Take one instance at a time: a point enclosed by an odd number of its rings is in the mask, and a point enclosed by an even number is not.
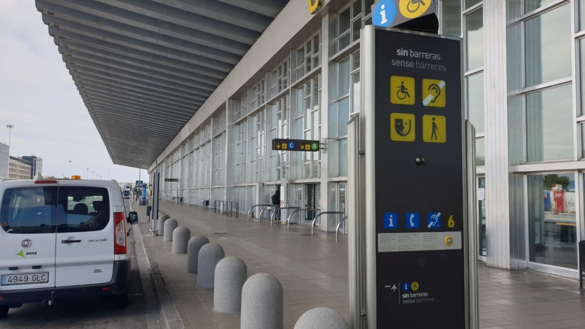
{"type": "Polygon", "coordinates": [[[239,312],[242,306],[242,287],[248,278],[246,263],[229,256],[215,266],[214,311],[239,312]]]}

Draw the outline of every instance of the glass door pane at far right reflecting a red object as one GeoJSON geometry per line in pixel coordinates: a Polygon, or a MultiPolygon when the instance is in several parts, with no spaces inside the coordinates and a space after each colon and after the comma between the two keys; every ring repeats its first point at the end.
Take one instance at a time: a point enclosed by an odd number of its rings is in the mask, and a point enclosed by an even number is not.
{"type": "Polygon", "coordinates": [[[577,268],[574,174],[528,175],[530,261],[577,268]]]}

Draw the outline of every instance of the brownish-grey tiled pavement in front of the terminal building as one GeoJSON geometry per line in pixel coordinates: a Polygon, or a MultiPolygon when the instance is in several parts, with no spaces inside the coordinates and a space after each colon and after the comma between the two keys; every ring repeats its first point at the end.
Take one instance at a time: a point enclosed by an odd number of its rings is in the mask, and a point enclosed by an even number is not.
{"type": "MultiPolygon", "coordinates": [[[[135,206],[144,217],[144,206],[135,206]]],[[[347,318],[347,236],[310,226],[247,221],[197,207],[161,202],[160,210],[222,245],[226,256],[246,262],[248,276],[270,273],[283,285],[284,328],[313,307],[330,307],[347,318]]],[[[197,288],[197,275],[187,273],[187,255],[171,254],[170,242],[152,237],[150,223],[139,228],[151,265],[160,271],[185,328],[239,328],[239,313],[213,311],[213,290],[197,288]]],[[[480,328],[585,328],[585,296],[579,282],[531,270],[504,271],[479,264],[480,328]]],[[[163,288],[164,289],[164,288],[163,288]]]]}

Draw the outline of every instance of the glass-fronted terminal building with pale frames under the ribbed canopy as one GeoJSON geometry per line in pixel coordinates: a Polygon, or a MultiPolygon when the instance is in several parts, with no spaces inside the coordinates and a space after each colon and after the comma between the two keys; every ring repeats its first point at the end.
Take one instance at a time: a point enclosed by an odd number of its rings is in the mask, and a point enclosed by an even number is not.
{"type": "MultiPolygon", "coordinates": [[[[229,200],[245,211],[280,190],[288,206],[344,211],[352,193],[347,122],[360,109],[360,29],[371,24],[373,3],[288,1],[146,164],[151,182],[161,173],[163,199],[229,200]],[[322,150],[273,150],[274,138],[316,140],[322,150]]],[[[439,34],[463,40],[479,258],[576,278],[577,241],[585,239],[585,9],[577,0],[439,0],[437,12],[439,34]]],[[[322,220],[321,230],[341,218],[322,220]]]]}

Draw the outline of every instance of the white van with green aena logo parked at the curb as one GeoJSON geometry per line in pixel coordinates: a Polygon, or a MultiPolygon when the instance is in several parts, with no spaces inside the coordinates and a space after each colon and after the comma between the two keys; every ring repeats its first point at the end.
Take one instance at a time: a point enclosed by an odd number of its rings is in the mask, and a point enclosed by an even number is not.
{"type": "Polygon", "coordinates": [[[116,181],[0,182],[0,318],[10,307],[111,297],[128,304],[130,257],[116,181]]]}

